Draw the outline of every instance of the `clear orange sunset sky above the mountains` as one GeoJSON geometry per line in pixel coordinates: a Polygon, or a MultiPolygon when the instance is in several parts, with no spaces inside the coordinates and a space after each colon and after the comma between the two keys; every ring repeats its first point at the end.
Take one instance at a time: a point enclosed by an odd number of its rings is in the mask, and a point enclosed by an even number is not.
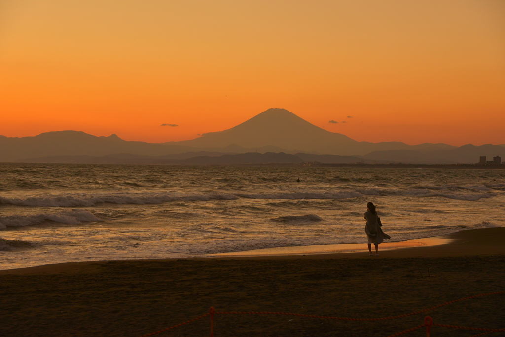
{"type": "Polygon", "coordinates": [[[0,96],[6,136],[183,140],[278,107],[356,140],[505,143],[505,1],[0,0],[0,96]]]}

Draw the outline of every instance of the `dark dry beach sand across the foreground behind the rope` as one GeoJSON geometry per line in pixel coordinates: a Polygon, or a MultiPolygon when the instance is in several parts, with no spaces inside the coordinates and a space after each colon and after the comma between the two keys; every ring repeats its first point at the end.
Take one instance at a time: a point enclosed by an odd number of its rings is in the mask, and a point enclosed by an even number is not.
{"type": "MultiPolygon", "coordinates": [[[[382,251],[97,261],[0,271],[0,336],[137,336],[217,311],[381,317],[505,290],[505,228],[440,246],[382,251]]],[[[505,327],[505,294],[428,312],[435,322],[505,327]]],[[[425,314],[372,322],[220,315],[216,336],[385,336],[425,314]]],[[[208,335],[209,318],[161,335],[208,335]]],[[[433,336],[479,331],[432,328],[433,336]]],[[[422,330],[407,334],[424,336],[422,330]]],[[[503,332],[487,334],[505,335],[503,332]]],[[[486,335],[486,336],[487,336],[486,335]]]]}

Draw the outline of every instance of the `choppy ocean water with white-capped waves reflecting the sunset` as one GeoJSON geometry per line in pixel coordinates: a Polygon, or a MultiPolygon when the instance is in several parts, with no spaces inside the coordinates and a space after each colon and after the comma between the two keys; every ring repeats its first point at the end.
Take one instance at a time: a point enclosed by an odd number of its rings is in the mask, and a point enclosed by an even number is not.
{"type": "Polygon", "coordinates": [[[501,169],[4,163],[0,174],[0,269],[366,243],[369,201],[392,241],[505,226],[501,169]]]}

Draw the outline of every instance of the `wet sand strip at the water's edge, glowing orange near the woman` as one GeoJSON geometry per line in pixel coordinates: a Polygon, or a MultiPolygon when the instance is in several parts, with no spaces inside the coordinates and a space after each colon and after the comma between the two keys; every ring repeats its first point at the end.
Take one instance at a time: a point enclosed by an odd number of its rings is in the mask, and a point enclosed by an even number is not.
{"type": "MultiPolygon", "coordinates": [[[[207,256],[156,259],[89,260],[46,264],[34,267],[0,270],[0,275],[74,273],[107,263],[169,262],[178,260],[279,260],[279,259],[360,259],[456,257],[505,254],[502,243],[505,227],[460,230],[441,236],[384,242],[379,256],[369,256],[366,244],[335,244],[263,248],[241,252],[213,253],[207,256]]],[[[372,246],[372,251],[374,248],[372,246]]]]}

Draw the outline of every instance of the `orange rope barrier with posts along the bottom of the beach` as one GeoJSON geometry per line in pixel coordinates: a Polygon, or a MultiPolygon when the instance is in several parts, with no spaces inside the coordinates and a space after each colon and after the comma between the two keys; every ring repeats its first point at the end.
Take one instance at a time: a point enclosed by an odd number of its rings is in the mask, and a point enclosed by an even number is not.
{"type": "MultiPolygon", "coordinates": [[[[159,331],[155,331],[155,332],[144,334],[144,335],[142,335],[140,337],[147,337],[147,336],[155,335],[155,334],[158,334],[158,333],[161,333],[161,332],[164,332],[164,331],[176,328],[176,327],[181,326],[181,325],[192,323],[192,322],[197,321],[197,320],[199,320],[201,318],[204,318],[206,316],[210,316],[210,335],[211,335],[211,337],[213,337],[214,336],[214,317],[215,317],[215,315],[284,315],[284,316],[297,316],[297,317],[309,317],[309,318],[336,319],[336,320],[346,320],[346,321],[378,321],[378,320],[395,319],[395,318],[402,318],[402,317],[413,316],[413,315],[420,314],[420,313],[423,313],[423,312],[426,312],[426,311],[429,311],[429,310],[438,309],[440,307],[443,307],[443,306],[446,306],[446,305],[449,305],[449,304],[452,304],[452,303],[456,303],[456,302],[460,302],[460,301],[465,301],[465,300],[470,300],[470,299],[475,299],[475,298],[484,297],[484,296],[489,296],[489,295],[499,295],[499,294],[505,294],[505,291],[492,292],[492,293],[482,293],[482,294],[477,294],[477,295],[473,295],[473,296],[462,297],[462,298],[459,298],[459,299],[456,299],[456,300],[452,300],[452,301],[449,301],[449,302],[445,302],[445,303],[442,303],[442,304],[439,304],[439,305],[436,305],[436,306],[432,306],[432,307],[425,308],[425,309],[422,309],[422,310],[410,312],[410,313],[407,313],[407,314],[401,314],[401,315],[396,315],[396,316],[375,317],[375,318],[353,318],[353,317],[338,317],[338,316],[321,316],[321,315],[297,314],[297,313],[292,313],[292,312],[279,312],[279,311],[215,311],[214,308],[211,307],[208,313],[205,313],[203,315],[197,316],[197,317],[195,317],[193,319],[190,319],[190,320],[188,320],[186,322],[179,323],[179,324],[176,324],[176,325],[172,325],[170,327],[167,327],[167,328],[159,330],[159,331]]],[[[433,319],[430,316],[426,316],[424,318],[424,323],[423,324],[420,324],[420,325],[411,327],[409,329],[402,330],[402,331],[390,334],[388,337],[399,336],[401,334],[405,334],[405,333],[417,330],[417,329],[419,329],[419,328],[421,328],[423,326],[426,326],[426,336],[430,337],[431,326],[433,326],[433,325],[440,326],[440,327],[456,328],[456,329],[485,331],[483,333],[479,333],[479,334],[476,334],[474,336],[482,335],[482,334],[486,334],[486,333],[490,333],[490,332],[505,331],[505,328],[484,328],[484,327],[472,327],[472,326],[461,326],[461,325],[434,323],[433,319]]]]}

